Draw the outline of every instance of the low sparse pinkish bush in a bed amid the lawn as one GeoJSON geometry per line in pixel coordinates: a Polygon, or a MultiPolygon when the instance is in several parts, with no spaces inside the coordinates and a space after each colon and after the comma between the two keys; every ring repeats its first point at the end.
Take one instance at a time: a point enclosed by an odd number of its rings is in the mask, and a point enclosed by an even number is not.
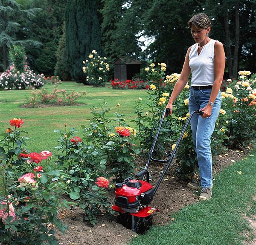
{"type": "Polygon", "coordinates": [[[81,97],[86,95],[86,91],[75,92],[74,89],[67,91],[65,89],[58,89],[54,86],[52,92],[48,94],[46,89],[33,90],[30,92],[31,97],[28,98],[28,104],[32,107],[38,107],[41,104],[58,104],[61,106],[72,106],[81,97]]]}

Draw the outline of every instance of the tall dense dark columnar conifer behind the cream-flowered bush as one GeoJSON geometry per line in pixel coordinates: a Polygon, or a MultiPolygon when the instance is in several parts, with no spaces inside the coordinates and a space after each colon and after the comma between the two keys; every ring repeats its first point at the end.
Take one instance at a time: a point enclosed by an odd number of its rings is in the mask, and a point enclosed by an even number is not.
{"type": "Polygon", "coordinates": [[[92,50],[102,55],[101,35],[96,0],[68,0],[66,6],[66,47],[71,75],[79,83],[86,83],[83,61],[92,50]]]}

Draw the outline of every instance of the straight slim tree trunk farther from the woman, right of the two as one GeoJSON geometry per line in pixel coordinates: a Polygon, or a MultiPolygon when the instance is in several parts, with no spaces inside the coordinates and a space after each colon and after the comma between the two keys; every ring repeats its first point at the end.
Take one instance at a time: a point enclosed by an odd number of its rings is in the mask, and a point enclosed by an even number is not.
{"type": "Polygon", "coordinates": [[[235,21],[236,21],[236,29],[235,29],[235,49],[233,55],[233,78],[237,78],[237,69],[238,69],[238,50],[239,50],[239,3],[235,3],[235,21]]]}

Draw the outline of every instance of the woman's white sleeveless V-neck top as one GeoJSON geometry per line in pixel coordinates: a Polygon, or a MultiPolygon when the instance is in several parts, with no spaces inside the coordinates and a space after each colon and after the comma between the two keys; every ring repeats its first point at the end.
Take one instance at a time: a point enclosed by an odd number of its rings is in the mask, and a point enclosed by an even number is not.
{"type": "Polygon", "coordinates": [[[214,44],[210,39],[198,55],[198,43],[195,43],[189,52],[189,67],[192,73],[192,86],[207,86],[214,82],[214,44]]]}

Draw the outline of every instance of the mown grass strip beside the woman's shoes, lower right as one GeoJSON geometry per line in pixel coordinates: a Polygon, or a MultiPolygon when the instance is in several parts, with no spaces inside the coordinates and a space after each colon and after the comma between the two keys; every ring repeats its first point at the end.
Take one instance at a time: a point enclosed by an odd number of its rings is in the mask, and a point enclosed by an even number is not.
{"type": "MultiPolygon", "coordinates": [[[[248,217],[256,213],[256,150],[216,176],[212,199],[172,214],[131,245],[244,245],[252,238],[248,217]],[[253,156],[254,155],[254,156],[253,156]]],[[[169,198],[169,197],[166,197],[169,198]]]]}

